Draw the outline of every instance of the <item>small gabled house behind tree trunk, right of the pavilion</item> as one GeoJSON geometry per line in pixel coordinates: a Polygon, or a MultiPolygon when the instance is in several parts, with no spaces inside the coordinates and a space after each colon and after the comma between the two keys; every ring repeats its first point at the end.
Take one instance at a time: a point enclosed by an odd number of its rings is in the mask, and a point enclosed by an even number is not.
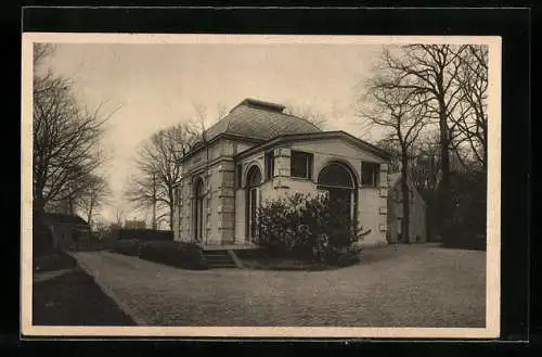
{"type": "MultiPolygon", "coordinates": [[[[403,204],[401,189],[401,174],[390,174],[388,193],[388,242],[406,243],[402,239],[403,204]]],[[[427,241],[427,208],[424,199],[416,190],[414,182],[408,179],[409,186],[409,243],[423,243],[427,241]]]]}

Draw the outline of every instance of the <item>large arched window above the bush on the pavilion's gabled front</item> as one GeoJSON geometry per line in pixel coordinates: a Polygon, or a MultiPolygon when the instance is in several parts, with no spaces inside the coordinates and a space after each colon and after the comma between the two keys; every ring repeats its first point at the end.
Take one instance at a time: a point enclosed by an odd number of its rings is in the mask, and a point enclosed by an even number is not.
{"type": "Polygon", "coordinates": [[[318,175],[318,189],[328,193],[330,201],[352,222],[356,214],[356,176],[343,163],[325,165],[318,175]]]}

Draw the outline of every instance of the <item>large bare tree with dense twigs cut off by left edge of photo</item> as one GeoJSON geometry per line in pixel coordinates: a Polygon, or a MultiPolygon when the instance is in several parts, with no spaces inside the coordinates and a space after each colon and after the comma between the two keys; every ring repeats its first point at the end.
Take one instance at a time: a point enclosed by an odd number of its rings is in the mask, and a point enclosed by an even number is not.
{"type": "Polygon", "coordinates": [[[48,205],[68,202],[85,189],[85,179],[103,163],[100,140],[113,113],[103,115],[102,105],[89,110],[80,104],[72,80],[40,73],[39,65],[53,51],[35,47],[33,113],[33,194],[35,215],[48,205]]]}

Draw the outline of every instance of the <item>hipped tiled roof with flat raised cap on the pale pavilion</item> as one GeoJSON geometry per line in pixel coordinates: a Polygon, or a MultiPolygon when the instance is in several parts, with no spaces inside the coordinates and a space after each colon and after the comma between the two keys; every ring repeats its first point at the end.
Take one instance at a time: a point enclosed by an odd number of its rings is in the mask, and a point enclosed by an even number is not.
{"type": "Polygon", "coordinates": [[[270,140],[286,133],[322,131],[304,118],[283,113],[284,109],[281,104],[247,98],[207,129],[205,140],[210,141],[221,133],[270,140]]]}

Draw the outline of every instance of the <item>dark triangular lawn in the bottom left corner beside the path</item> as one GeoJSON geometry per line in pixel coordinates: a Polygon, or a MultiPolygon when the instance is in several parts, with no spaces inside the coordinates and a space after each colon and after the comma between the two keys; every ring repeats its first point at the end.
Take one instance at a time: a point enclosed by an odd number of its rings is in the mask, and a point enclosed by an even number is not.
{"type": "Polygon", "coordinates": [[[79,268],[33,283],[33,324],[130,326],[122,313],[79,268]]]}

